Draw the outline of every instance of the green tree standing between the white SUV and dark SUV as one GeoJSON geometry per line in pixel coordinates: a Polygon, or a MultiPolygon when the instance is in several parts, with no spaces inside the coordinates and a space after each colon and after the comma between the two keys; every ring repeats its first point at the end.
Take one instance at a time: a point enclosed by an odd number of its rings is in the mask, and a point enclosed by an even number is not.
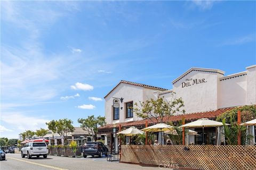
{"type": "MultiPolygon", "coordinates": [[[[58,133],[61,137],[65,139],[69,135],[70,132],[74,132],[75,128],[72,125],[73,121],[65,119],[60,119],[59,121],[52,120],[49,123],[46,123],[48,129],[51,130],[53,133],[58,133]]],[[[62,143],[63,144],[63,143],[62,143]]]]}

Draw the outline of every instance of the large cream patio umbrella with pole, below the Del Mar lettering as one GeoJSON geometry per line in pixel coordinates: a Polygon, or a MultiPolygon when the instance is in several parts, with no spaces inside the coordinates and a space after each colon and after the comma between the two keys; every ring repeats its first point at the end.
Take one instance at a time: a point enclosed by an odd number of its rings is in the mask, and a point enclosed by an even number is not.
{"type": "MultiPolygon", "coordinates": [[[[226,123],[226,125],[229,125],[226,123]]],[[[217,127],[223,126],[222,122],[212,121],[208,118],[201,118],[195,122],[187,123],[185,125],[180,126],[181,128],[203,128],[203,145],[204,145],[204,128],[205,127],[217,127]]]]}

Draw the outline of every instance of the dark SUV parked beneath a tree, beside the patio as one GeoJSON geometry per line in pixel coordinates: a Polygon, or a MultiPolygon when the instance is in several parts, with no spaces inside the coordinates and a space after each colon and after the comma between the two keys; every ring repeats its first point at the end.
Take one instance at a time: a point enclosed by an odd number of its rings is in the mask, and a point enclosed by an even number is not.
{"type": "Polygon", "coordinates": [[[86,142],[83,146],[83,156],[84,158],[87,155],[98,155],[102,157],[102,155],[108,155],[108,148],[102,142],[86,142]]]}

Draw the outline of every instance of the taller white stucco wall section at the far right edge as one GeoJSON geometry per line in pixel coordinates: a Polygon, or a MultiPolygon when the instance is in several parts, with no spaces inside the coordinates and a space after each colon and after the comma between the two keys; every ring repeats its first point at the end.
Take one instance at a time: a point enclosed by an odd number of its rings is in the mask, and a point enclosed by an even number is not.
{"type": "Polygon", "coordinates": [[[247,69],[247,98],[246,104],[256,104],[256,65],[246,67],[247,69]]]}

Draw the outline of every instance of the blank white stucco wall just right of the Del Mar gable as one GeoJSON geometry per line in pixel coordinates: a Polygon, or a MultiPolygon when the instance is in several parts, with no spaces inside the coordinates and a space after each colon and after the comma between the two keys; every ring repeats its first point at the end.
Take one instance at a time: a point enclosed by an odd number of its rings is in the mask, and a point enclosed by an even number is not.
{"type": "Polygon", "coordinates": [[[220,81],[219,108],[246,105],[247,76],[220,81]]]}

